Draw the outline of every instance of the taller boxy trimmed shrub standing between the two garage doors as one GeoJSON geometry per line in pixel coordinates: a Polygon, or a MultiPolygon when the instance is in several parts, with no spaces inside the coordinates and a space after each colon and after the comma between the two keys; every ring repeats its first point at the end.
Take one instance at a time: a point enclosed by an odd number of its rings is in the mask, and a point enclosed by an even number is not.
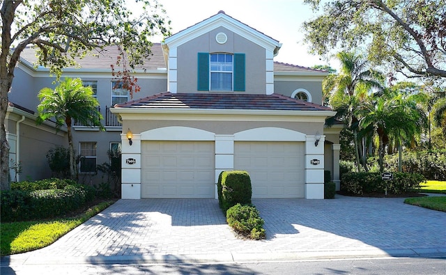
{"type": "Polygon", "coordinates": [[[251,179],[246,171],[223,171],[217,183],[218,203],[224,214],[233,205],[251,203],[251,179]]]}

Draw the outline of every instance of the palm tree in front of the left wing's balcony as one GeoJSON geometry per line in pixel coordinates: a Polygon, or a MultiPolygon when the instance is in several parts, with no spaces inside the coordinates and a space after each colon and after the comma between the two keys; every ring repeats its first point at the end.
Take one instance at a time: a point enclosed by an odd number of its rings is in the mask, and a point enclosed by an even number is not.
{"type": "Polygon", "coordinates": [[[75,149],[72,143],[71,125],[74,121],[82,125],[98,126],[104,129],[100,120],[102,115],[98,111],[99,102],[93,97],[91,87],[84,87],[81,79],[66,78],[54,90],[43,88],[38,94],[40,104],[38,123],[49,118],[56,119],[56,129],[66,125],[68,130],[68,148],[70,153],[70,175],[77,178],[75,149]]]}

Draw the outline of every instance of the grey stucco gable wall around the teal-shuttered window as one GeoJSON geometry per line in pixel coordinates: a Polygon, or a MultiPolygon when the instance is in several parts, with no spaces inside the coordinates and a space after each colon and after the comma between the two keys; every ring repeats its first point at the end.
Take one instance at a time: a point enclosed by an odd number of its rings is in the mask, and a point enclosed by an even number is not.
{"type": "Polygon", "coordinates": [[[214,29],[178,47],[178,93],[215,93],[215,91],[197,90],[197,54],[199,52],[245,54],[246,91],[234,93],[266,93],[266,49],[224,27],[214,29]],[[228,37],[223,45],[215,41],[215,36],[220,32],[226,33],[228,37]]]}

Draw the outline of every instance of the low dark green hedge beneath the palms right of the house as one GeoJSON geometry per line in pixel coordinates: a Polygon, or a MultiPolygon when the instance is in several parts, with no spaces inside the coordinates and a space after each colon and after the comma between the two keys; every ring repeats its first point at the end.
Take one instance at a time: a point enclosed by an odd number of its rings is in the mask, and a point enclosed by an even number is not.
{"type": "Polygon", "coordinates": [[[393,180],[383,180],[380,173],[345,173],[341,179],[341,190],[349,194],[385,193],[401,194],[420,189],[426,179],[418,173],[393,173],[393,180]]]}

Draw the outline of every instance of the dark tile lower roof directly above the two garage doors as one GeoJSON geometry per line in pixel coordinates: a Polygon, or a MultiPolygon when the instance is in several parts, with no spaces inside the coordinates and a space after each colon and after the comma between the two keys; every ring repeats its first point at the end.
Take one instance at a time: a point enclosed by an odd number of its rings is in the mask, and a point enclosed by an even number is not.
{"type": "Polygon", "coordinates": [[[114,107],[141,109],[238,109],[238,110],[288,110],[331,111],[311,102],[295,100],[284,95],[253,95],[233,93],[158,93],[114,107]]]}

